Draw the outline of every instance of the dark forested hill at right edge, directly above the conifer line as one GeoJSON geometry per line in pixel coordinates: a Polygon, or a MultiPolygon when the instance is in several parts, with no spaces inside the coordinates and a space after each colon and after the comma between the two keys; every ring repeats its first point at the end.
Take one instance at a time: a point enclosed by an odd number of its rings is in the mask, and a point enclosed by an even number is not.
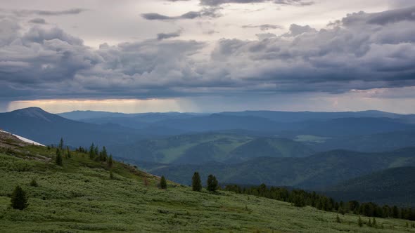
{"type": "Polygon", "coordinates": [[[415,206],[415,166],[389,168],[323,189],[341,200],[415,206]]]}

